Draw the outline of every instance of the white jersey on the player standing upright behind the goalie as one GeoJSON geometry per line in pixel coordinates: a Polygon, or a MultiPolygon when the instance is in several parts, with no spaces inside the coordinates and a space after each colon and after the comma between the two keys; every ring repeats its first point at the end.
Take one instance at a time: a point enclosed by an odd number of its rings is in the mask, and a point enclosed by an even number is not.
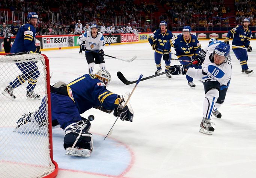
{"type": "Polygon", "coordinates": [[[85,42],[86,49],[89,49],[92,51],[97,51],[97,50],[99,51],[103,49],[103,46],[105,46],[105,39],[102,33],[100,32],[97,32],[97,33],[98,33],[97,36],[93,38],[91,31],[84,32],[77,39],[79,45],[85,42]]]}

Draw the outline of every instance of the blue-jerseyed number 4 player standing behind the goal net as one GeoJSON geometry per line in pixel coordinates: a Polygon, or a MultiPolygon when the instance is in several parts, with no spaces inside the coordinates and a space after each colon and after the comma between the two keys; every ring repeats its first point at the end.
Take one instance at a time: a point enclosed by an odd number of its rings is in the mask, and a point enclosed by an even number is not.
{"type": "MultiPolygon", "coordinates": [[[[18,52],[30,52],[30,53],[41,53],[40,46],[35,46],[36,43],[36,25],[38,22],[38,15],[35,12],[29,12],[27,15],[27,24],[21,26],[15,37],[14,43],[11,48],[11,53],[18,52]]],[[[9,99],[14,100],[16,97],[13,90],[25,81],[28,82],[27,85],[27,100],[38,100],[40,95],[34,93],[34,88],[36,87],[37,78],[40,75],[38,67],[35,62],[23,62],[16,63],[18,68],[21,70],[22,74],[18,75],[17,78],[12,81],[2,94],[7,96],[9,99]]]]}

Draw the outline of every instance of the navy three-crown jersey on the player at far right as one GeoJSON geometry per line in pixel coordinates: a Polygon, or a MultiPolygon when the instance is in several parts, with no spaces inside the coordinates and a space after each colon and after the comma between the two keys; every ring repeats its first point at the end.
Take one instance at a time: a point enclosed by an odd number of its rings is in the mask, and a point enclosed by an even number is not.
{"type": "MultiPolygon", "coordinates": [[[[234,35],[232,45],[248,48],[251,41],[251,30],[249,30],[249,28],[244,30],[243,25],[237,25],[227,33],[226,37],[230,38],[232,35],[234,35]]],[[[238,47],[232,46],[232,49],[237,48],[238,47]]]]}

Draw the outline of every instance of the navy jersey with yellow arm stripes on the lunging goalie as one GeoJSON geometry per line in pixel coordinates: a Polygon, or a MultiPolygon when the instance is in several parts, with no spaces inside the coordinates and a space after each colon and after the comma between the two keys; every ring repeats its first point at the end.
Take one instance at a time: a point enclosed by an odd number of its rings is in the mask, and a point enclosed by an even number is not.
{"type": "Polygon", "coordinates": [[[67,84],[67,90],[80,114],[93,106],[113,110],[119,105],[120,96],[108,91],[95,75],[86,74],[75,79],[67,84]]]}

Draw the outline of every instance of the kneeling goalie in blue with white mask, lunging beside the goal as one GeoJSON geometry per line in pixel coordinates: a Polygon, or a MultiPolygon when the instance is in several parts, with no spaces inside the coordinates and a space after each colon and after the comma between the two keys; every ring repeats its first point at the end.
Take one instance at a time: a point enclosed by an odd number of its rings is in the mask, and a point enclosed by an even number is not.
{"type": "MultiPolygon", "coordinates": [[[[57,82],[51,87],[51,118],[52,125],[60,124],[65,131],[64,148],[66,154],[73,156],[90,156],[93,150],[92,134],[89,133],[90,121],[81,117],[91,108],[119,116],[121,120],[133,121],[133,109],[127,98],[107,90],[111,82],[107,70],[99,70],[92,74],[83,75],[69,84],[57,82]],[[123,108],[123,106],[125,108],[123,108]],[[75,140],[78,140],[77,142],[75,140]]],[[[46,105],[45,99],[38,111],[24,114],[18,121],[16,131],[36,132],[44,127],[46,105]]],[[[90,118],[89,118],[90,119],[90,118]]]]}

